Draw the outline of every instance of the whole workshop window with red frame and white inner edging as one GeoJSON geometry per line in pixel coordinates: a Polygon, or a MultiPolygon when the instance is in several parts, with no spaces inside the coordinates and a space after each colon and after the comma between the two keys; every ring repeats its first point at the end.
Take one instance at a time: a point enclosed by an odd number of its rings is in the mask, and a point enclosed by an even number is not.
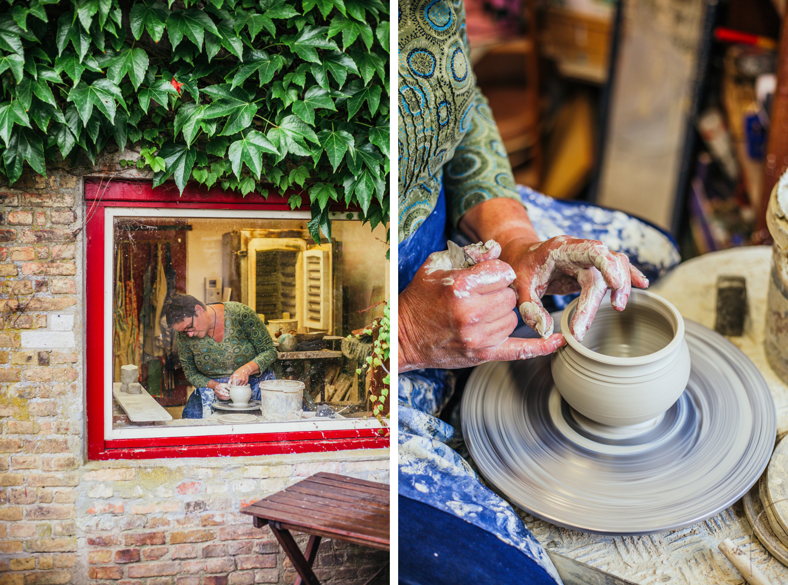
{"type": "MultiPolygon", "coordinates": [[[[388,295],[383,226],[373,232],[337,211],[331,241],[318,244],[307,229],[310,211],[292,211],[280,196],[190,188],[179,196],[150,184],[87,181],[85,199],[91,459],[388,446],[367,416],[366,377],[356,374],[367,344],[344,340],[382,311],[375,305],[388,295]],[[165,318],[176,294],[206,307],[224,303],[225,319],[231,308],[243,311],[263,339],[255,351],[264,344],[276,356],[264,378],[303,382],[306,408],[266,421],[255,402],[239,409],[213,394],[200,402],[195,363],[180,362],[183,334],[165,318]],[[124,366],[133,384],[121,377],[124,366]]],[[[210,351],[211,367],[238,361],[210,351]]]]}

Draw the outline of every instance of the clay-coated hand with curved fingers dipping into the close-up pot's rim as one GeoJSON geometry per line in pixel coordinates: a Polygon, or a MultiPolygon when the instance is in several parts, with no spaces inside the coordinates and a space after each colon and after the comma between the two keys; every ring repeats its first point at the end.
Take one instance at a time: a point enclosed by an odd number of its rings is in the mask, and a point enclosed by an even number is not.
{"type": "Polygon", "coordinates": [[[623,311],[632,286],[649,286],[649,279],[630,264],[626,255],[611,252],[597,240],[558,236],[537,243],[511,241],[501,259],[517,273],[512,288],[517,293],[522,320],[544,339],[552,335],[553,326],[552,317],[541,304],[545,294],[580,291],[570,329],[575,339],[582,341],[608,288],[611,304],[616,311],[623,311]]]}

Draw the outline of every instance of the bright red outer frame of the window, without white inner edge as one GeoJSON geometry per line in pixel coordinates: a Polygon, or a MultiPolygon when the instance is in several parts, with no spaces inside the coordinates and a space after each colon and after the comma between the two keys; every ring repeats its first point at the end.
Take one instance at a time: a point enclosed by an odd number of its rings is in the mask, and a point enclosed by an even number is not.
{"type": "MultiPolygon", "coordinates": [[[[150,182],[117,179],[85,181],[85,382],[87,386],[87,456],[90,460],[153,459],[159,457],[249,456],[314,453],[389,446],[381,429],[314,430],[265,434],[221,434],[198,437],[107,439],[104,427],[104,245],[106,211],[110,207],[177,209],[238,209],[290,211],[287,195],[246,197],[219,188],[187,186],[179,194],[174,184],[153,188],[150,182]]],[[[299,211],[309,211],[303,206],[299,211]]],[[[338,208],[332,211],[348,211],[338,208]]]]}

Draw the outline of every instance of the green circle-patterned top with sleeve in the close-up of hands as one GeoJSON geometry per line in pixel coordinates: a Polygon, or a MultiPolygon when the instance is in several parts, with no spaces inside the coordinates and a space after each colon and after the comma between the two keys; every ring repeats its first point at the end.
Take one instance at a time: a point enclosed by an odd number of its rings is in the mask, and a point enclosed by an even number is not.
{"type": "Polygon", "coordinates": [[[433,211],[456,224],[493,197],[522,201],[470,65],[463,0],[400,0],[399,241],[433,211]]]}

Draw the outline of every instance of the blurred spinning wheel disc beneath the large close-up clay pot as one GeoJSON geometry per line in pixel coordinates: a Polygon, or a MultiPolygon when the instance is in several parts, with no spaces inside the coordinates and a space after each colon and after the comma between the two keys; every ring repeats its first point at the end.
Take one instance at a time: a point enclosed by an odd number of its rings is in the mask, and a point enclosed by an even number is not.
{"type": "Polygon", "coordinates": [[[574,412],[552,383],[549,357],[477,367],[463,396],[463,434],[481,474],[533,516],[605,535],[675,530],[737,501],[768,464],[774,403],[735,345],[685,326],[686,390],[633,427],[574,412]]]}

